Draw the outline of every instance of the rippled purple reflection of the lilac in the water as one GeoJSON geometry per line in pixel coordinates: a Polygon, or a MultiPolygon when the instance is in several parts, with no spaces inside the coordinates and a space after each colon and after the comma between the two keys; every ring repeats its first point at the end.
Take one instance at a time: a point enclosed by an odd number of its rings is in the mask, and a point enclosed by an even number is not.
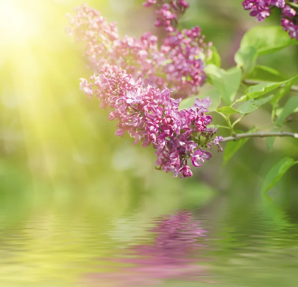
{"type": "Polygon", "coordinates": [[[163,215],[155,222],[149,230],[155,233],[151,244],[130,247],[125,259],[114,260],[128,266],[114,273],[92,275],[89,283],[134,287],[160,284],[165,279],[197,281],[206,276],[205,268],[197,264],[203,246],[198,239],[206,233],[200,222],[188,211],[163,215]]]}

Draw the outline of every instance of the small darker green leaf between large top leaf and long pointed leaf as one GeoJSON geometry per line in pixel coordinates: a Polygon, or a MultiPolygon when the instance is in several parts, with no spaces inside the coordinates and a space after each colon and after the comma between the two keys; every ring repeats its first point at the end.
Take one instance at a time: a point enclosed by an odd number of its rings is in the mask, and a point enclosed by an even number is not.
{"type": "Polygon", "coordinates": [[[284,81],[285,77],[275,69],[267,66],[257,65],[254,70],[246,76],[247,79],[257,81],[284,81]]]}

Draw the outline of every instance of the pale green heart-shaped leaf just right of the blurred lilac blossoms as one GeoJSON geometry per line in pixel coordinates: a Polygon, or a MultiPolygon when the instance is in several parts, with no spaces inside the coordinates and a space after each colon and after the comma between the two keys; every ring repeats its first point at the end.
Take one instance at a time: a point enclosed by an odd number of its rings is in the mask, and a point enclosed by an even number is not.
{"type": "Polygon", "coordinates": [[[214,87],[220,91],[225,104],[230,105],[240,86],[241,70],[231,68],[225,71],[211,64],[206,67],[205,72],[214,87]]]}

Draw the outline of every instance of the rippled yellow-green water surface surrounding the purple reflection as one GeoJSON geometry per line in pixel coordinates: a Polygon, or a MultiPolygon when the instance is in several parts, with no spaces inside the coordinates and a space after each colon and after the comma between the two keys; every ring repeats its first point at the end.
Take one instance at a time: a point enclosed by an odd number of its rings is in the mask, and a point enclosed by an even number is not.
{"type": "Polygon", "coordinates": [[[1,287],[297,287],[298,215],[293,197],[277,204],[269,197],[235,197],[201,183],[186,193],[123,188],[106,193],[100,185],[81,193],[40,188],[14,193],[2,189],[1,287]],[[195,263],[164,276],[168,267],[159,266],[158,260],[145,260],[141,271],[138,264],[125,262],[142,259],[131,247],[154,237],[150,228],[156,216],[180,209],[189,210],[207,230],[195,263]],[[194,266],[199,281],[188,281],[187,276],[180,280],[180,271],[194,266]]]}

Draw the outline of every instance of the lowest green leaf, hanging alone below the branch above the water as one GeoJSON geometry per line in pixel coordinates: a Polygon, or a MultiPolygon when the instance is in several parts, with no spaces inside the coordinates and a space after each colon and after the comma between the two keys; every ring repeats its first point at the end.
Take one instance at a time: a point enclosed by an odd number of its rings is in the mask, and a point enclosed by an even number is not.
{"type": "Polygon", "coordinates": [[[261,193],[266,193],[270,190],[294,164],[293,158],[285,157],[274,165],[264,179],[261,193]]]}

